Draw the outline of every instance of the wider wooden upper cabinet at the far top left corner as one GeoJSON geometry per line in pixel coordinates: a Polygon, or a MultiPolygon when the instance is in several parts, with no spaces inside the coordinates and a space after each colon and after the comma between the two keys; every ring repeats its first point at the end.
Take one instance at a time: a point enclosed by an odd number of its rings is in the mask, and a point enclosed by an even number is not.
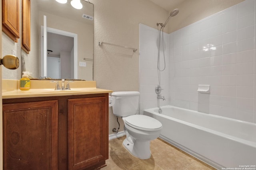
{"type": "Polygon", "coordinates": [[[20,0],[2,0],[2,31],[15,42],[20,38],[20,0]]]}

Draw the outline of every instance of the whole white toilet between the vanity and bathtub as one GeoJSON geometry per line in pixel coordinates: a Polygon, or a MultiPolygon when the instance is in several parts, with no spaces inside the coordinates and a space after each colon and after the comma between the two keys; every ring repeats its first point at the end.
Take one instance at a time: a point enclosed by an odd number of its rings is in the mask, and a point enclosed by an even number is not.
{"type": "Polygon", "coordinates": [[[123,146],[140,159],[151,156],[150,141],[159,137],[162,123],[146,115],[136,115],[140,92],[113,92],[113,113],[122,117],[126,139],[123,146]]]}

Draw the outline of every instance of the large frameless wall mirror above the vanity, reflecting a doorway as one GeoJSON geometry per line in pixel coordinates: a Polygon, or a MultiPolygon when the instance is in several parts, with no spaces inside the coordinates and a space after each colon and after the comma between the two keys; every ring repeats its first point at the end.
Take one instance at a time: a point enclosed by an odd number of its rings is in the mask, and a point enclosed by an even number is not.
{"type": "Polygon", "coordinates": [[[47,25],[47,49],[42,47],[43,33],[39,31],[39,38],[36,37],[40,58],[43,57],[43,51],[47,51],[47,59],[42,58],[38,62],[40,76],[93,80],[93,4],[81,0],[83,8],[78,10],[71,6],[70,0],[66,4],[55,0],[35,2],[31,2],[31,7],[35,5],[38,10],[31,10],[31,16],[38,16],[38,30],[43,30],[44,16],[47,25]],[[42,66],[43,60],[47,61],[47,66],[42,66]],[[47,75],[42,73],[45,68],[47,75]]]}

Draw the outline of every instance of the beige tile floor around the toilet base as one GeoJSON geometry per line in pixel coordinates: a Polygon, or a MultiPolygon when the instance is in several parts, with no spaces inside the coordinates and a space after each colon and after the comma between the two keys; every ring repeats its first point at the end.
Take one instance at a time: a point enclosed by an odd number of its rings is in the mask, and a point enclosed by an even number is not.
{"type": "Polygon", "coordinates": [[[215,170],[161,139],[150,142],[150,159],[136,158],[122,146],[124,139],[125,136],[109,141],[107,166],[101,170],[215,170]]]}

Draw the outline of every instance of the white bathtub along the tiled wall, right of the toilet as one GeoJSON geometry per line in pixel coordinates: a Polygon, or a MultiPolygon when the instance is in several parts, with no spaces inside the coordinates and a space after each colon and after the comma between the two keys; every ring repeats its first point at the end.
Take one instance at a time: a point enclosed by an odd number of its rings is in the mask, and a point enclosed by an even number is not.
{"type": "Polygon", "coordinates": [[[256,169],[256,124],[174,106],[144,110],[162,125],[160,138],[216,169],[256,169]]]}

